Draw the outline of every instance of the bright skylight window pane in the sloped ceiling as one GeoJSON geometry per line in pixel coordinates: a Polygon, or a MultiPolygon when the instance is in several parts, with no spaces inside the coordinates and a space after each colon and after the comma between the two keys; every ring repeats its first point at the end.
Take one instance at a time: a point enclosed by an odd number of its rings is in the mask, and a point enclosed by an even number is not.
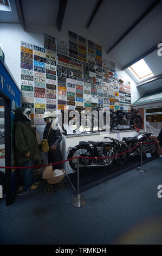
{"type": "Polygon", "coordinates": [[[154,75],[144,59],[140,59],[138,62],[130,66],[128,69],[139,81],[154,75]]]}

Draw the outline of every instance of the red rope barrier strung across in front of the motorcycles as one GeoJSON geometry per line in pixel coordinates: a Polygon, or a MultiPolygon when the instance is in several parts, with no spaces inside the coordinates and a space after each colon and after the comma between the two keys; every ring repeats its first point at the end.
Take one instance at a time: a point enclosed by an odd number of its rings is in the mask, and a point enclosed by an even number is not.
{"type": "MultiPolygon", "coordinates": [[[[3,168],[3,169],[31,169],[31,168],[40,168],[40,167],[46,167],[46,166],[54,166],[55,164],[64,163],[64,162],[71,161],[71,160],[77,159],[77,158],[81,158],[81,159],[95,159],[95,160],[97,160],[97,159],[107,159],[107,158],[111,158],[111,157],[116,157],[116,156],[124,155],[124,154],[128,153],[129,151],[132,151],[133,149],[137,148],[140,144],[141,143],[139,142],[133,148],[131,148],[131,149],[125,151],[125,152],[122,152],[120,154],[113,155],[113,156],[105,156],[105,157],[74,156],[74,157],[72,157],[70,159],[67,159],[67,160],[63,160],[63,161],[56,162],[56,163],[43,164],[42,166],[29,166],[29,167],[4,167],[4,166],[0,166],[0,168],[3,168]]],[[[156,143],[155,142],[150,142],[150,143],[142,142],[142,144],[156,144],[156,143]]]]}

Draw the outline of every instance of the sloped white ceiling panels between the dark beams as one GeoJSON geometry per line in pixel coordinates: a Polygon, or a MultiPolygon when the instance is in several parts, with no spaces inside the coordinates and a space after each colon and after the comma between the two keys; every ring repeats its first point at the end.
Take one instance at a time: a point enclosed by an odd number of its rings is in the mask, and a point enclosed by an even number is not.
{"type": "MultiPolygon", "coordinates": [[[[25,23],[56,25],[59,2],[22,0],[25,23]]],[[[88,29],[108,50],[153,2],[154,0],[103,0],[88,29]]],[[[96,3],[98,0],[67,0],[62,26],[86,27],[96,3]]],[[[15,0],[10,0],[10,5],[12,12],[0,11],[0,22],[19,23],[15,0]]],[[[162,1],[111,51],[121,68],[162,42],[161,24],[162,1]]],[[[157,56],[157,51],[144,59],[154,76],[162,74],[162,57],[157,56]]],[[[155,83],[153,87],[156,88],[155,83]]]]}

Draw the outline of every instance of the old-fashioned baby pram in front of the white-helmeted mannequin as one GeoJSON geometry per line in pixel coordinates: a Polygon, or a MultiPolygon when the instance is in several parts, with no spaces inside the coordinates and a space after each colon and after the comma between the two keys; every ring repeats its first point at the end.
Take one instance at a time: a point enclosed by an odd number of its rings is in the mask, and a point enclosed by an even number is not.
{"type": "Polygon", "coordinates": [[[48,185],[44,187],[44,192],[46,194],[50,194],[54,190],[54,186],[56,186],[57,191],[64,190],[64,176],[65,176],[65,170],[61,169],[57,172],[59,175],[53,170],[53,166],[47,166],[43,170],[42,179],[47,180],[48,185]]]}

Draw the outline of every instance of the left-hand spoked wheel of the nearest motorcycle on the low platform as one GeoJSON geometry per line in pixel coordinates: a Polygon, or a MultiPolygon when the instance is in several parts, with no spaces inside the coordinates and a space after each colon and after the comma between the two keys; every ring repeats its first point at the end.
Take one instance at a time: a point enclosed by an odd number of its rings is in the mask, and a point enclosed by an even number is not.
{"type": "MultiPolygon", "coordinates": [[[[75,156],[84,156],[84,157],[90,157],[92,153],[92,150],[85,145],[79,145],[75,149],[72,149],[70,151],[70,154],[68,156],[68,159],[73,158],[75,156]]],[[[92,163],[92,160],[90,159],[79,159],[79,167],[85,167],[89,166],[90,163],[92,163]]],[[[77,170],[77,158],[69,161],[70,167],[72,167],[73,170],[77,170]]]]}

